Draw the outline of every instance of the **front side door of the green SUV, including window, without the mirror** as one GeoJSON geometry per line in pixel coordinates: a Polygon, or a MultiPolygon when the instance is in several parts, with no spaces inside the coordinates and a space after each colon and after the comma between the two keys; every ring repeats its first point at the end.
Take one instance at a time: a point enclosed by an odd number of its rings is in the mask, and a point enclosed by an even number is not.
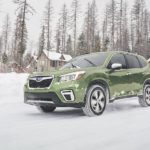
{"type": "Polygon", "coordinates": [[[130,83],[127,73],[127,64],[124,55],[113,55],[109,62],[108,69],[111,99],[128,96],[130,90],[130,83]],[[114,63],[122,64],[122,68],[112,71],[111,66],[114,63]]]}

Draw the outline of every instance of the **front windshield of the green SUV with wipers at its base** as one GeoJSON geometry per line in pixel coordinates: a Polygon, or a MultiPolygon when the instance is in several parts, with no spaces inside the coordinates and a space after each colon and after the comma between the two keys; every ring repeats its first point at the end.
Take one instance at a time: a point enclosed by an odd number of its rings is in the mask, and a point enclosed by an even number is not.
{"type": "Polygon", "coordinates": [[[88,68],[96,67],[104,64],[107,57],[107,53],[93,53],[83,55],[72,59],[70,62],[65,64],[61,69],[65,68],[88,68]]]}

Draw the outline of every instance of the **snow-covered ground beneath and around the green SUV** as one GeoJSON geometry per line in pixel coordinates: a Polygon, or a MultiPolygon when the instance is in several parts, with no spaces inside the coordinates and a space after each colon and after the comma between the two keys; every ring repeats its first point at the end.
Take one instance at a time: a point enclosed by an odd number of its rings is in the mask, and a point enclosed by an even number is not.
{"type": "Polygon", "coordinates": [[[27,75],[0,74],[0,150],[150,150],[150,108],[116,101],[100,117],[58,108],[42,114],[23,103],[27,75]]]}

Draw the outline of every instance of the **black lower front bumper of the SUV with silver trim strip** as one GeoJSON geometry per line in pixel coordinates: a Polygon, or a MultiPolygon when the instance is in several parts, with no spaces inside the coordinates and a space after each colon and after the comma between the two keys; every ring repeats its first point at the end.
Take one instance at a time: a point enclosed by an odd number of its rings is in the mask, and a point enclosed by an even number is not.
{"type": "Polygon", "coordinates": [[[24,93],[24,102],[30,105],[45,106],[45,105],[54,105],[56,107],[75,107],[81,108],[84,103],[63,103],[55,92],[47,93],[34,93],[34,92],[25,92],[24,93]]]}

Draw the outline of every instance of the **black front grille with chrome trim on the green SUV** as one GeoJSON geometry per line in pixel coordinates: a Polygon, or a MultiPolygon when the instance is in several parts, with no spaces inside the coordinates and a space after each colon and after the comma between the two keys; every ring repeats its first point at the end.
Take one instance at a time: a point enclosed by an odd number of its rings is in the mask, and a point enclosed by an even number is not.
{"type": "Polygon", "coordinates": [[[36,76],[29,79],[29,88],[48,88],[53,77],[36,76]]]}

